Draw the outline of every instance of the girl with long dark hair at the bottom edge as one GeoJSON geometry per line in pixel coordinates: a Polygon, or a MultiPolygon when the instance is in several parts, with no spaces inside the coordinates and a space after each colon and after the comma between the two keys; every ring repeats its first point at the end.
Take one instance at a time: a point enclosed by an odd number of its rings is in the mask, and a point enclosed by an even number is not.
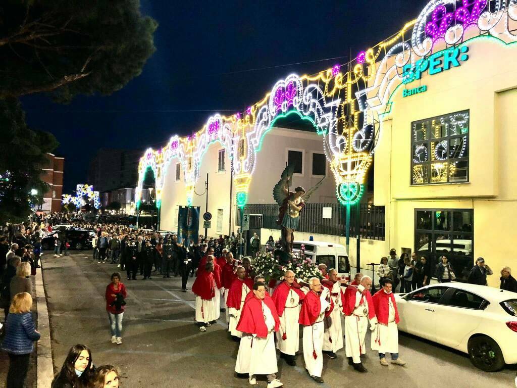
{"type": "Polygon", "coordinates": [[[68,351],[63,367],[54,377],[52,388],[86,388],[93,381],[92,352],[86,345],[74,345],[68,351]]]}

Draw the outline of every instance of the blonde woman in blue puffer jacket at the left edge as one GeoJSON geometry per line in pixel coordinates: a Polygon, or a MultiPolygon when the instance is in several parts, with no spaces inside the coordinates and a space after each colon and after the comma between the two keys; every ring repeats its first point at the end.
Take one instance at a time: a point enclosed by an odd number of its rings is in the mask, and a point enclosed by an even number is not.
{"type": "Polygon", "coordinates": [[[6,321],[6,335],[2,350],[9,354],[6,388],[23,388],[33,342],[40,338],[31,315],[32,297],[20,292],[12,298],[6,321]]]}

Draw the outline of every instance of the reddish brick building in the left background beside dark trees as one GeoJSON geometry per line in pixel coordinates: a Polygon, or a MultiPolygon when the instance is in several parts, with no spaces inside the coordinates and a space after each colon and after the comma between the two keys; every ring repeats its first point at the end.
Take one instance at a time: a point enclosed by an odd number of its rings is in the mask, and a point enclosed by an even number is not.
{"type": "Polygon", "coordinates": [[[65,158],[47,153],[47,163],[41,173],[41,180],[48,183],[49,191],[43,195],[41,211],[44,213],[61,211],[61,195],[63,194],[63,168],[65,158]]]}

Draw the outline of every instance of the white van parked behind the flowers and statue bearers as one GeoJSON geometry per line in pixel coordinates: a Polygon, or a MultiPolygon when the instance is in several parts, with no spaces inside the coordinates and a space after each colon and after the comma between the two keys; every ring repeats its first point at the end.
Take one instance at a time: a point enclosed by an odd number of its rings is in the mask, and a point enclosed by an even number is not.
{"type": "Polygon", "coordinates": [[[329,270],[336,268],[339,276],[349,277],[350,263],[344,245],[323,241],[295,241],[293,252],[299,253],[301,244],[305,244],[305,256],[310,257],[313,263],[326,264],[329,270]]]}

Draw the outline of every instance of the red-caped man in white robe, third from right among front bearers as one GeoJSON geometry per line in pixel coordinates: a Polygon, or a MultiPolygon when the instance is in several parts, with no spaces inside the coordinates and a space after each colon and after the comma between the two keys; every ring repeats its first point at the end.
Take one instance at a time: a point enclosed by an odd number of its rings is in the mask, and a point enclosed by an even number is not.
{"type": "Polygon", "coordinates": [[[346,285],[346,279],[338,278],[338,271],[331,268],[328,271],[329,280],[323,281],[322,285],[330,291],[330,297],[334,308],[328,317],[325,317],[325,334],[323,337],[323,353],[331,359],[337,357],[336,352],[343,349],[343,328],[341,326],[341,310],[343,304],[341,302],[341,285],[346,285]]]}

